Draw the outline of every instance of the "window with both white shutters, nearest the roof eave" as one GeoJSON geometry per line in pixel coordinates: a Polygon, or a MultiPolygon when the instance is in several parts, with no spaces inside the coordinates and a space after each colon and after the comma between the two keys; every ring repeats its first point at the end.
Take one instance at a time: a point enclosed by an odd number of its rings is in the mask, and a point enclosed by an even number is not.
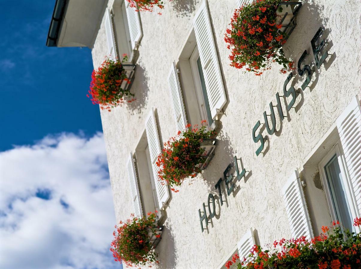
{"type": "Polygon", "coordinates": [[[135,62],[143,32],[139,12],[128,1],[114,0],[112,9],[106,10],[105,32],[109,55],[115,59],[126,53],[129,62],[135,62]]]}

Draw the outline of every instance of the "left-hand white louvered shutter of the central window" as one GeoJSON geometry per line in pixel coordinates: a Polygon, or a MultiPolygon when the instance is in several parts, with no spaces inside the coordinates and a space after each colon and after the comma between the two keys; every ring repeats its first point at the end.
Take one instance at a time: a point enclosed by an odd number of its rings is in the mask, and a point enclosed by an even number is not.
{"type": "Polygon", "coordinates": [[[175,124],[177,125],[177,131],[184,131],[186,130],[187,125],[186,112],[184,110],[183,95],[178,79],[177,68],[175,67],[174,62],[170,67],[168,75],[168,87],[170,91],[170,98],[172,99],[173,113],[175,124]]]}

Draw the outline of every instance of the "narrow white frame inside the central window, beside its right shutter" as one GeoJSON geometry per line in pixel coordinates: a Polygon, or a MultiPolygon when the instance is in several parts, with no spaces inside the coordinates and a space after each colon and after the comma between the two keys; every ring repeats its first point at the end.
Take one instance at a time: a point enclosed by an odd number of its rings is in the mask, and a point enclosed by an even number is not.
{"type": "MultiPolygon", "coordinates": [[[[191,71],[193,76],[193,82],[194,87],[196,89],[196,95],[197,95],[197,103],[198,103],[198,109],[202,120],[206,120],[208,127],[211,126],[209,122],[209,118],[212,118],[211,115],[208,115],[206,106],[205,106],[205,97],[202,89],[201,79],[200,79],[200,73],[198,69],[197,60],[199,59],[199,51],[198,46],[196,46],[192,52],[191,57],[189,58],[189,62],[191,64],[191,71]]],[[[214,122],[214,120],[213,120],[214,122]]]]}

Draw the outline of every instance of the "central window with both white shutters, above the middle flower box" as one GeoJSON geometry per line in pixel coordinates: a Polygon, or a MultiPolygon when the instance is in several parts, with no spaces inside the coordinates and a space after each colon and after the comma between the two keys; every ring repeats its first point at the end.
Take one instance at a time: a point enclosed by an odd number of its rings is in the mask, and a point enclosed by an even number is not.
{"type": "Polygon", "coordinates": [[[168,83],[178,130],[185,122],[195,125],[201,120],[215,127],[227,98],[206,0],[193,19],[178,62],[171,64],[168,83]]]}

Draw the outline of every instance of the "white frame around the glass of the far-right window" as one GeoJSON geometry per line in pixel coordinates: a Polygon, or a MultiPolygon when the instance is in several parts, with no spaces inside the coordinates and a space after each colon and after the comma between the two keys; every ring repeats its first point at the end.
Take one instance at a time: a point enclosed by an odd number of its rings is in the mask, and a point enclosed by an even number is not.
{"type": "MultiPolygon", "coordinates": [[[[322,187],[323,187],[323,190],[325,190],[327,207],[329,208],[329,212],[330,212],[332,220],[337,220],[337,218],[336,218],[336,212],[335,212],[333,202],[332,202],[332,194],[330,192],[329,183],[327,182],[327,175],[326,175],[324,167],[327,165],[327,163],[329,163],[329,161],[335,155],[336,155],[337,161],[339,163],[341,176],[343,179],[343,184],[345,186],[345,191],[346,191],[346,196],[347,196],[346,198],[347,198],[348,205],[349,205],[349,207],[351,207],[353,205],[353,201],[351,199],[351,189],[350,189],[350,185],[349,185],[349,178],[346,173],[344,156],[343,156],[342,148],[340,148],[340,145],[341,145],[341,141],[339,140],[334,145],[334,147],[330,150],[330,152],[327,153],[326,156],[322,159],[322,161],[318,164],[318,171],[321,175],[321,180],[322,180],[322,185],[323,185],[322,187]]],[[[351,212],[352,218],[355,219],[356,217],[353,214],[352,208],[350,208],[350,212],[351,212]]],[[[351,220],[352,222],[353,222],[353,219],[351,220]]]]}

